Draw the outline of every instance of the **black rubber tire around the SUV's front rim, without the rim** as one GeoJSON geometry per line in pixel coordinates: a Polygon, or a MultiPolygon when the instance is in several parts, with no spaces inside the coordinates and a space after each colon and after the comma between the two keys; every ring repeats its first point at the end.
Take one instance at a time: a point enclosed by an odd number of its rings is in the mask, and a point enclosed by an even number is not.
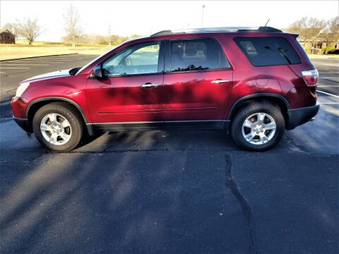
{"type": "Polygon", "coordinates": [[[78,111],[67,102],[52,102],[41,107],[37,110],[33,117],[32,126],[37,140],[39,140],[39,142],[49,150],[58,152],[68,152],[73,150],[73,148],[78,145],[83,135],[83,121],[81,116],[78,111]],[[42,135],[40,123],[42,122],[42,119],[44,119],[44,116],[47,116],[48,114],[59,114],[69,121],[69,125],[71,126],[71,137],[68,141],[66,141],[66,143],[62,145],[54,145],[49,143],[44,138],[44,135],[42,135]]]}

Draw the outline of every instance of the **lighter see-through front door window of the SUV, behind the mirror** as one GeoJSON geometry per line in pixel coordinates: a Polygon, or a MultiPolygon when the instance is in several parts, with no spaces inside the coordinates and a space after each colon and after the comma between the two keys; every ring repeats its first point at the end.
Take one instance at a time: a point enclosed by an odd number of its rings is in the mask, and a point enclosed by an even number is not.
{"type": "Polygon", "coordinates": [[[138,44],[112,56],[103,63],[107,75],[157,73],[160,43],[138,44]]]}

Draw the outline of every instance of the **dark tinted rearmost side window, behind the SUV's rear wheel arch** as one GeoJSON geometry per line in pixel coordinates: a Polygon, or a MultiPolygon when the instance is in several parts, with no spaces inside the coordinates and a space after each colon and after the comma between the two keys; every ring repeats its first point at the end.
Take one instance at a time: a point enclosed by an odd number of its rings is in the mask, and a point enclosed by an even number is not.
{"type": "Polygon", "coordinates": [[[283,37],[236,37],[234,41],[254,66],[300,63],[300,58],[283,37]]]}

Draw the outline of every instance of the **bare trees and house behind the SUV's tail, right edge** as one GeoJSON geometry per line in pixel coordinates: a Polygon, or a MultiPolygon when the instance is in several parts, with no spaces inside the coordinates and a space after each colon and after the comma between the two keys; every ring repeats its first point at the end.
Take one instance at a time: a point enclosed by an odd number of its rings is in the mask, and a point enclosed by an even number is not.
{"type": "Polygon", "coordinates": [[[339,49],[339,16],[329,20],[304,17],[285,31],[299,34],[298,40],[308,53],[328,54],[339,49]]]}

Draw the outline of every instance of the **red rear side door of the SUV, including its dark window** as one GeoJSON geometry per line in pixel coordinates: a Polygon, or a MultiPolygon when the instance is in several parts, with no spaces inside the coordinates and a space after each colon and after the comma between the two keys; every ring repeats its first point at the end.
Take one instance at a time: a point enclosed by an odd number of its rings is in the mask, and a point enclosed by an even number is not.
{"type": "Polygon", "coordinates": [[[165,121],[220,121],[232,92],[232,68],[210,38],[166,44],[163,107],[165,121]]]}

